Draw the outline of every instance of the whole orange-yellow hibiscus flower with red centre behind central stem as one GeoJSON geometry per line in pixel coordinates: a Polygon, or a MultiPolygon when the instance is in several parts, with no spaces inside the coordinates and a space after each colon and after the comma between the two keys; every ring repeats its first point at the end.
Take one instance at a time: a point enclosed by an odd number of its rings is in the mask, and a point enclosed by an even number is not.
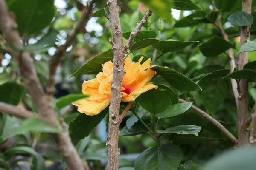
{"type": "MultiPolygon", "coordinates": [[[[157,86],[149,83],[156,74],[149,69],[151,59],[140,64],[143,57],[138,62],[132,62],[131,57],[125,59],[125,72],[122,82],[122,102],[134,101],[141,93],[144,93],[157,86]]],[[[111,81],[113,79],[113,63],[106,62],[103,66],[103,72],[97,74],[95,79],[84,81],[82,93],[89,95],[88,98],[73,102],[78,106],[78,111],[93,116],[104,110],[111,100],[111,81]]]]}

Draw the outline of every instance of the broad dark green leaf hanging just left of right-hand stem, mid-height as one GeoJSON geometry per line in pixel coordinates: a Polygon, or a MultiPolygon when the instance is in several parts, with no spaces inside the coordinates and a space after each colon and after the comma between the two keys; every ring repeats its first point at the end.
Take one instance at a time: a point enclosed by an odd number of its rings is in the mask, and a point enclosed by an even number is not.
{"type": "Polygon", "coordinates": [[[222,79],[229,72],[228,69],[213,71],[198,82],[198,85],[202,88],[202,91],[198,91],[198,94],[207,109],[207,113],[214,114],[218,111],[229,93],[231,89],[229,81],[228,79],[222,79]]]}

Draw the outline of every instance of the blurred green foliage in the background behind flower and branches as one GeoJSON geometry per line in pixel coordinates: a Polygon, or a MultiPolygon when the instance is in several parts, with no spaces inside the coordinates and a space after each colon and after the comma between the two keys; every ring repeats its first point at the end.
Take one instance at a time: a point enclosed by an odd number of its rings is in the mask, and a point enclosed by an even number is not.
{"type": "MultiPolygon", "coordinates": [[[[41,18],[33,15],[31,23],[24,22],[27,17],[31,16],[32,11],[22,11],[29,5],[29,1],[17,0],[19,6],[17,6],[15,0],[8,0],[9,10],[14,11],[17,15],[17,22],[23,23],[23,27],[19,24],[20,34],[23,38],[23,44],[26,50],[29,50],[34,58],[36,72],[42,85],[46,85],[48,75],[48,64],[51,57],[55,54],[57,48],[65,43],[65,38],[70,34],[70,31],[76,26],[77,21],[80,19],[81,14],[85,10],[87,0],[55,0],[54,5],[49,1],[49,6],[44,1],[38,0],[41,3],[42,10],[47,11],[47,15],[41,16],[41,18]],[[44,5],[43,5],[44,4],[44,5]],[[50,8],[49,8],[50,7],[50,8]],[[17,9],[19,8],[19,9],[17,9]],[[19,17],[21,15],[22,17],[19,17]],[[53,18],[53,19],[52,19],[53,18]],[[49,20],[51,21],[49,23],[49,20]],[[49,23],[49,24],[48,24],[49,23]]],[[[180,73],[186,75],[192,80],[196,79],[201,74],[210,73],[222,68],[229,69],[228,56],[226,53],[213,54],[215,49],[221,48],[221,42],[218,44],[209,44],[208,50],[204,51],[200,45],[207,42],[212,37],[220,36],[221,33],[216,26],[217,17],[221,17],[221,22],[224,26],[226,33],[229,36],[231,46],[234,54],[239,51],[239,27],[233,26],[228,17],[234,11],[241,11],[240,0],[214,0],[215,6],[212,0],[192,0],[195,4],[201,7],[202,11],[179,11],[177,9],[170,10],[171,15],[167,12],[167,16],[164,18],[164,28],[162,31],[157,30],[157,20],[159,15],[153,14],[153,16],[146,23],[147,27],[143,27],[142,31],[153,30],[157,33],[157,37],[160,40],[179,40],[179,41],[199,41],[192,45],[187,46],[181,50],[172,51],[163,54],[154,64],[160,66],[167,66],[180,73]],[[207,54],[208,52],[208,54],[207,54]]],[[[144,2],[144,1],[141,1],[144,2]]],[[[152,1],[145,1],[145,4],[150,5],[152,1]]],[[[159,3],[162,1],[159,0],[159,3]]],[[[164,1],[163,1],[164,2],[164,1]]],[[[136,23],[141,19],[143,13],[142,8],[138,8],[139,0],[122,0],[123,8],[120,16],[122,33],[133,31],[136,23]]],[[[33,3],[31,3],[33,4],[33,3]]],[[[94,12],[105,7],[105,0],[98,0],[94,8],[94,12]]],[[[256,1],[253,0],[252,16],[256,16],[256,1]]],[[[36,10],[36,8],[35,8],[36,10]]],[[[39,10],[40,11],[40,10],[39,10]]],[[[145,11],[144,11],[145,12],[145,11]]],[[[44,12],[45,14],[45,12],[44,12]]],[[[40,15],[38,15],[40,16],[40,15]]],[[[255,17],[256,18],[256,17],[255,17]]],[[[64,60],[58,66],[56,72],[56,90],[55,98],[58,99],[67,94],[79,93],[81,91],[81,84],[84,80],[94,78],[96,75],[81,75],[77,77],[70,77],[81,65],[95,57],[101,52],[108,51],[111,48],[109,43],[109,37],[111,37],[111,29],[109,21],[105,17],[92,17],[87,26],[76,36],[76,40],[73,45],[67,48],[64,60]]],[[[251,40],[256,38],[256,21],[253,22],[251,27],[251,40]]],[[[124,38],[124,42],[126,39],[124,38]]],[[[4,39],[0,34],[0,85],[9,82],[10,88],[13,87],[10,92],[6,92],[3,95],[1,91],[0,101],[4,101],[7,95],[9,95],[11,104],[18,105],[20,108],[26,108],[28,110],[38,112],[31,97],[27,91],[23,88],[22,77],[19,75],[17,68],[17,62],[6,53],[4,45],[4,39]],[[16,83],[15,83],[16,82],[16,83]],[[9,93],[9,94],[8,94],[9,93]],[[20,98],[20,102],[13,101],[12,98],[20,98]]],[[[224,49],[225,51],[225,49],[224,49]]],[[[131,57],[136,56],[148,56],[152,58],[153,55],[159,56],[161,53],[157,51],[154,54],[154,48],[148,46],[146,48],[134,51],[130,54],[131,57]]],[[[256,60],[256,52],[250,52],[249,62],[256,60]]],[[[199,84],[203,91],[193,92],[179,92],[179,97],[188,101],[193,101],[194,105],[209,113],[216,120],[221,122],[232,134],[237,134],[237,117],[236,117],[236,103],[233,96],[231,83],[229,79],[211,79],[200,82],[199,84]]],[[[255,82],[249,85],[249,114],[253,109],[253,104],[256,100],[256,88],[255,82]]],[[[6,101],[5,101],[6,102],[6,101]]],[[[175,104],[175,102],[173,102],[175,104]]],[[[140,105],[136,105],[138,111],[143,111],[140,105]]],[[[65,122],[72,122],[78,112],[72,105],[68,105],[60,110],[57,110],[60,118],[63,118],[65,122]]],[[[148,114],[143,114],[143,119],[148,118],[148,114]]],[[[121,129],[127,125],[129,117],[132,113],[129,113],[125,120],[121,124],[121,129]]],[[[130,120],[131,121],[131,120],[130,120]]],[[[183,159],[180,166],[180,170],[187,170],[186,164],[189,164],[189,160],[192,160],[193,164],[201,166],[212,157],[218,155],[224,150],[233,147],[233,142],[225,136],[217,127],[215,127],[207,119],[203,119],[198,113],[192,109],[187,110],[185,113],[178,116],[169,117],[166,119],[160,119],[158,122],[158,129],[166,129],[177,125],[196,125],[201,126],[201,131],[198,133],[198,140],[193,141],[193,135],[186,135],[184,139],[179,139],[182,135],[168,134],[161,136],[161,141],[169,142],[177,140],[177,144],[180,145],[180,149],[183,154],[183,159]],[[207,138],[205,140],[204,138],[207,138]],[[179,140],[186,142],[179,142],[179,140]]],[[[15,117],[6,116],[1,114],[0,121],[0,162],[3,168],[8,169],[11,166],[13,169],[18,166],[27,166],[26,160],[29,162],[37,161],[40,164],[40,160],[45,160],[47,169],[62,169],[62,159],[58,152],[56,144],[53,142],[49,133],[41,133],[38,131],[19,133],[17,128],[23,120],[16,119],[15,117]],[[11,146],[6,146],[5,141],[11,139],[11,146]],[[20,148],[22,147],[22,148],[20,148]],[[33,148],[34,153],[29,148],[33,148]],[[12,151],[6,152],[6,150],[12,151]],[[12,154],[18,153],[15,157],[12,154]],[[20,152],[19,152],[20,151],[20,152]],[[34,156],[31,159],[30,155],[34,156]],[[1,159],[3,156],[4,159],[1,159]],[[26,160],[25,160],[25,159],[26,160]],[[44,159],[43,159],[44,158],[44,159]],[[20,159],[20,162],[17,160],[20,159]],[[8,161],[5,161],[8,160],[8,161]],[[5,162],[8,162],[6,164],[5,162]]],[[[76,146],[82,159],[87,160],[92,169],[100,170],[104,169],[107,163],[107,147],[105,140],[107,136],[106,132],[106,119],[90,133],[90,135],[82,139],[76,146]]],[[[130,170],[133,167],[133,162],[139,153],[143,152],[146,148],[157,146],[154,139],[146,133],[138,134],[135,136],[120,136],[120,170],[130,170]]],[[[29,165],[28,165],[29,166],[29,165]]],[[[35,166],[34,166],[35,167],[35,166]]],[[[43,170],[44,166],[40,169],[43,170]]]]}

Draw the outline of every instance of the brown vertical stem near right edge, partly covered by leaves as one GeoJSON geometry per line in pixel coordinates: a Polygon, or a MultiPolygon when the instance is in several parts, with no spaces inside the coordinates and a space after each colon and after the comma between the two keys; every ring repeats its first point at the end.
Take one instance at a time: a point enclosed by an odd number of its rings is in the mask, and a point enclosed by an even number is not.
{"type": "MultiPolygon", "coordinates": [[[[242,8],[244,12],[251,13],[252,0],[242,0],[242,8]]],[[[240,47],[245,42],[250,41],[250,26],[242,26],[240,32],[240,47]]],[[[239,54],[238,69],[243,69],[248,63],[248,52],[239,54]]],[[[243,128],[248,119],[248,80],[240,80],[238,82],[238,101],[237,101],[237,118],[238,118],[238,145],[247,144],[249,138],[249,130],[243,128]]]]}

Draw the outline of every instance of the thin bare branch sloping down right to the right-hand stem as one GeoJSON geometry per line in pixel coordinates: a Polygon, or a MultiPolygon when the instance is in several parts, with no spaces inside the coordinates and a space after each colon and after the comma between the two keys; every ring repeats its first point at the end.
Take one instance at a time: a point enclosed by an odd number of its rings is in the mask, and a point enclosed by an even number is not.
{"type": "MultiPolygon", "coordinates": [[[[179,99],[179,102],[183,102],[184,103],[184,102],[187,102],[187,101],[183,100],[183,99],[179,99]]],[[[196,107],[195,105],[192,105],[191,108],[194,111],[197,111],[199,114],[201,114],[201,116],[203,116],[204,118],[206,118],[210,122],[212,122],[212,124],[215,125],[216,127],[218,127],[223,133],[225,133],[231,139],[231,141],[233,141],[235,144],[237,144],[238,140],[236,139],[236,137],[233,136],[233,134],[230,133],[223,125],[221,125],[220,122],[215,120],[212,116],[210,116],[206,112],[202,111],[200,108],[196,107]]]]}

